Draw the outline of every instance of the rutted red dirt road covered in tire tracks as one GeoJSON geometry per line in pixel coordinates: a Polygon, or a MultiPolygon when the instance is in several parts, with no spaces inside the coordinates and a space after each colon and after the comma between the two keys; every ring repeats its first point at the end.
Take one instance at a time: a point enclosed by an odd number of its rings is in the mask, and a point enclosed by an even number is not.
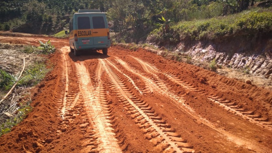
{"type": "Polygon", "coordinates": [[[75,57],[68,40],[51,42],[55,67],[0,152],[272,152],[269,90],[143,49],[75,57]]]}

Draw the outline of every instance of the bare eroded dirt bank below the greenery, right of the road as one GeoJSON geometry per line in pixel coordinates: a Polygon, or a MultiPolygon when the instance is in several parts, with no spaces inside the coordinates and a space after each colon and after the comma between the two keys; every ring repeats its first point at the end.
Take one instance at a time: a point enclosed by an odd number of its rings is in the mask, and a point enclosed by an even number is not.
{"type": "MultiPolygon", "coordinates": [[[[147,40],[154,44],[152,39],[147,40]]],[[[167,44],[165,46],[169,47],[167,44]]],[[[246,70],[272,80],[272,39],[267,35],[225,36],[210,41],[182,40],[174,48],[175,54],[185,53],[197,65],[215,59],[218,64],[228,68],[246,70]]]]}

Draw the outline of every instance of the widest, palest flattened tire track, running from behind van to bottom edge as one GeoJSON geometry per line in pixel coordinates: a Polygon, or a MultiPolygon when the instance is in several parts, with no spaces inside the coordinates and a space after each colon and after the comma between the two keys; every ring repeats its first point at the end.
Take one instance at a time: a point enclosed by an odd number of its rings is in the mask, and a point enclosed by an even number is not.
{"type": "MultiPolygon", "coordinates": [[[[100,77],[100,70],[98,69],[97,77],[100,77]]],[[[85,111],[93,125],[92,131],[95,133],[94,138],[86,140],[84,144],[86,148],[82,152],[122,152],[115,138],[114,129],[111,128],[110,122],[113,117],[103,82],[99,81],[96,88],[93,86],[84,62],[75,63],[75,73],[79,81],[85,111]]],[[[100,80],[100,78],[97,79],[100,80]]],[[[89,123],[84,124],[84,126],[88,125],[89,123]]]]}

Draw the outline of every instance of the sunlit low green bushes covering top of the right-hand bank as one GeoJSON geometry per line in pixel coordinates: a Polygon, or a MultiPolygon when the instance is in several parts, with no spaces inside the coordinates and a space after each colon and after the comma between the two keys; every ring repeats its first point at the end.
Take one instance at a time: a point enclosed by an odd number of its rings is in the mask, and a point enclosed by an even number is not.
{"type": "Polygon", "coordinates": [[[206,20],[181,21],[172,25],[169,34],[165,35],[160,29],[154,29],[149,37],[155,42],[170,40],[173,43],[181,39],[217,39],[226,34],[239,32],[272,32],[272,12],[269,10],[252,9],[225,17],[216,17],[206,20]]]}

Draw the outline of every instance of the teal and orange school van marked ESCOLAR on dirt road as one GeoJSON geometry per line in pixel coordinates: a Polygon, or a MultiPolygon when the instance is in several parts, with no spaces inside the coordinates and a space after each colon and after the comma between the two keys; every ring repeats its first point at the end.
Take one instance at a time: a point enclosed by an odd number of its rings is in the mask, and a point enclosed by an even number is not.
{"type": "Polygon", "coordinates": [[[102,50],[108,54],[111,46],[110,33],[106,14],[98,9],[80,9],[70,20],[69,35],[70,51],[78,56],[84,50],[102,50]]]}

